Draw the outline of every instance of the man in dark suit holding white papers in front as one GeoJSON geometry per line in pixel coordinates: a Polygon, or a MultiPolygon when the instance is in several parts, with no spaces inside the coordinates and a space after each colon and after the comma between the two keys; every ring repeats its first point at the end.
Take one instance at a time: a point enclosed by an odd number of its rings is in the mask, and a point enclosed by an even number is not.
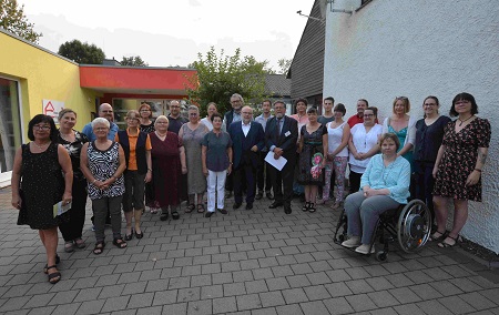
{"type": "Polygon", "coordinates": [[[296,141],[298,139],[298,122],[285,115],[286,105],[282,101],[274,102],[275,116],[267,122],[265,129],[265,144],[274,152],[274,159],[281,156],[287,160],[283,170],[271,167],[272,186],[275,201],[268,206],[276,209],[284,205],[286,214],[292,213],[293,174],[296,163],[296,141]]]}

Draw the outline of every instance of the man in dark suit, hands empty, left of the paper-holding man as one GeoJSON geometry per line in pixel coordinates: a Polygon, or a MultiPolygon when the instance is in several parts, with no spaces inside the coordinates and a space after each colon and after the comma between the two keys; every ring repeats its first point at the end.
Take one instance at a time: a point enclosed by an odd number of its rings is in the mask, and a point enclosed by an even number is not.
{"type": "Polygon", "coordinates": [[[233,209],[238,209],[243,204],[243,181],[245,180],[246,210],[252,210],[255,201],[258,152],[265,146],[265,133],[262,124],[252,121],[252,108],[244,106],[241,113],[242,121],[233,122],[228,126],[234,163],[233,209]]]}

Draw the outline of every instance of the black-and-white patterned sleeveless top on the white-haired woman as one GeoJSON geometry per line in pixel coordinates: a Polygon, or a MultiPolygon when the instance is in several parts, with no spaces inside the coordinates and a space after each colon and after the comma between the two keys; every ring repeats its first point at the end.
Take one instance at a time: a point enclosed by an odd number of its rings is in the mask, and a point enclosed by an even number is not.
{"type": "MultiPolygon", "coordinates": [[[[120,166],[120,145],[118,142],[111,143],[111,145],[101,151],[95,146],[95,142],[91,142],[86,149],[86,158],[89,160],[89,169],[92,175],[98,181],[105,181],[110,179],[116,172],[120,166]]],[[[124,193],[124,179],[123,174],[114,181],[106,190],[100,190],[96,186],[89,183],[88,185],[89,196],[91,200],[103,197],[115,197],[124,193]]]]}

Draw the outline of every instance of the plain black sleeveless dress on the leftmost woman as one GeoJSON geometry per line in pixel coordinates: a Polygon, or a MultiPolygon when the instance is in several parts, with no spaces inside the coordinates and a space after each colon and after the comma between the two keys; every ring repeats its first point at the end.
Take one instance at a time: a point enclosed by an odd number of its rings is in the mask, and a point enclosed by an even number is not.
{"type": "Polygon", "coordinates": [[[68,220],[68,212],[53,217],[53,205],[62,200],[64,177],[58,160],[58,144],[50,143],[41,153],[22,145],[21,200],[18,225],[47,230],[68,220]]]}

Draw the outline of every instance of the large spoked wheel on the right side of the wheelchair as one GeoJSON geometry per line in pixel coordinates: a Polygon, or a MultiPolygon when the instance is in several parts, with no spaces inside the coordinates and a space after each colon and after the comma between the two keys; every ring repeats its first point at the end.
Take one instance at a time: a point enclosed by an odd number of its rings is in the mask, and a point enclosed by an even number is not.
{"type": "Polygon", "coordinates": [[[431,213],[420,200],[413,200],[400,212],[397,238],[406,253],[420,250],[431,233],[431,213]]]}

